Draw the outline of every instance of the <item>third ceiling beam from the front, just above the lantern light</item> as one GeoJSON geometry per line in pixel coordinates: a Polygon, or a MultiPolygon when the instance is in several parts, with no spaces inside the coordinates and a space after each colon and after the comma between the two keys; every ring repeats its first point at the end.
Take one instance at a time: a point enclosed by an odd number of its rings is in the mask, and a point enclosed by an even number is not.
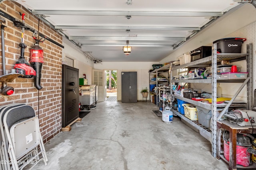
{"type": "Polygon", "coordinates": [[[69,40],[186,41],[186,37],[69,36],[69,40]]]}

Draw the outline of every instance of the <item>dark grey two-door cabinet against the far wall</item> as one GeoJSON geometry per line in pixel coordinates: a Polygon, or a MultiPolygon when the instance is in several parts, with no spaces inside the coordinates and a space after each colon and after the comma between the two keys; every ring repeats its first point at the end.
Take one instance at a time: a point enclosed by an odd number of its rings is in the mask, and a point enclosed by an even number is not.
{"type": "Polygon", "coordinates": [[[137,102],[137,72],[122,72],[122,102],[137,102]]]}

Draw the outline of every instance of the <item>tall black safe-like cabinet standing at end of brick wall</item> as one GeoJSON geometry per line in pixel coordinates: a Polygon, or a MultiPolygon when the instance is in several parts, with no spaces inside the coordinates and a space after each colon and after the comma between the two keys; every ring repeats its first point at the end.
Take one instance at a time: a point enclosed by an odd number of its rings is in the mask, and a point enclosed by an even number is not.
{"type": "Polygon", "coordinates": [[[78,69],[62,65],[62,127],[79,117],[78,69]]]}

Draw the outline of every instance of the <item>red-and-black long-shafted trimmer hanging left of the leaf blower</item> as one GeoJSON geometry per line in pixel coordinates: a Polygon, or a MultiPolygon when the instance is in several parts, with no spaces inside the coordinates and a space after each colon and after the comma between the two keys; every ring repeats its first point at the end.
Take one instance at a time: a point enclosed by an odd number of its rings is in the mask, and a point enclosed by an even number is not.
{"type": "Polygon", "coordinates": [[[23,74],[23,78],[33,78],[36,76],[36,71],[28,64],[24,57],[24,52],[27,47],[27,45],[24,43],[24,31],[27,29],[25,26],[25,14],[21,14],[22,16],[22,22],[14,21],[14,25],[16,27],[22,28],[21,33],[21,43],[19,44],[20,47],[20,58],[19,61],[14,65],[15,72],[23,74]]]}

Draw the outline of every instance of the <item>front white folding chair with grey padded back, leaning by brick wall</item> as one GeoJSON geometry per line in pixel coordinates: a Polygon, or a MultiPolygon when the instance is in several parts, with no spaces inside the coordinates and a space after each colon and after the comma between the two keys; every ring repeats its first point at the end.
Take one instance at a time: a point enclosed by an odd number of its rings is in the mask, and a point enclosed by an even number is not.
{"type": "Polygon", "coordinates": [[[8,109],[4,114],[3,124],[8,140],[8,153],[15,170],[22,170],[25,166],[33,164],[30,166],[31,169],[41,160],[47,165],[39,120],[31,106],[23,105],[8,109]]]}

